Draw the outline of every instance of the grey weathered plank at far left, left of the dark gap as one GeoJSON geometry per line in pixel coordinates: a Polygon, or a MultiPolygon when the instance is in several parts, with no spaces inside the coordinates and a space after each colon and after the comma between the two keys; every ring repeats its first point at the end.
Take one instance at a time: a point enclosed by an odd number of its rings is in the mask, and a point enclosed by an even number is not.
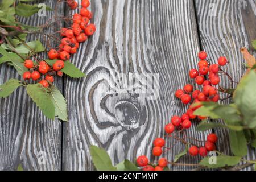
{"type": "MultiPolygon", "coordinates": [[[[43,2],[54,8],[57,1],[43,2]]],[[[63,7],[61,3],[58,7],[60,13],[64,12],[63,7]]],[[[36,14],[20,20],[38,26],[53,15],[53,11],[47,11],[46,17],[36,14]]],[[[49,28],[47,33],[53,31],[54,28],[49,28]]],[[[29,40],[35,38],[35,35],[29,36],[29,40]]],[[[0,73],[0,84],[10,78],[21,79],[15,69],[7,64],[0,65],[0,73]]],[[[55,81],[59,89],[62,89],[62,83],[62,79],[55,81]]],[[[0,170],[16,170],[19,164],[26,170],[61,169],[61,123],[57,119],[46,119],[23,88],[10,97],[0,99],[0,170]]]]}

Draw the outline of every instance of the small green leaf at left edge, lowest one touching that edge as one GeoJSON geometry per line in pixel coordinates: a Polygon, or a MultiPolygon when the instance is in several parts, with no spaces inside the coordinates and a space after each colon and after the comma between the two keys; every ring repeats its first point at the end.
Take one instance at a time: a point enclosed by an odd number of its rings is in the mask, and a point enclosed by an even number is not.
{"type": "Polygon", "coordinates": [[[5,84],[0,85],[0,98],[5,98],[10,96],[19,86],[22,86],[19,80],[11,79],[5,84]]]}

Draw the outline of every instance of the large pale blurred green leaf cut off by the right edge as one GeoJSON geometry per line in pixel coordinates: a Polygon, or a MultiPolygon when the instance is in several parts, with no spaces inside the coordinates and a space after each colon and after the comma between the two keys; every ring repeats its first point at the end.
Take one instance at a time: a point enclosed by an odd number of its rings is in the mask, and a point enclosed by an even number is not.
{"type": "Polygon", "coordinates": [[[251,71],[242,78],[234,93],[234,101],[243,115],[243,122],[250,128],[256,127],[256,73],[251,71]]]}

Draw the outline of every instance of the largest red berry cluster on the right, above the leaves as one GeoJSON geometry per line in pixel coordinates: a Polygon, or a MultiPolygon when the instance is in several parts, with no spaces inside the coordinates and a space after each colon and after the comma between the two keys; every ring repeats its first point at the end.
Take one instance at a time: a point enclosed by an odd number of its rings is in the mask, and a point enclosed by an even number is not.
{"type": "MultiPolygon", "coordinates": [[[[203,89],[194,90],[193,85],[187,84],[183,89],[176,91],[175,96],[179,98],[183,104],[193,103],[189,106],[187,113],[185,113],[181,118],[174,117],[174,122],[172,124],[176,127],[182,126],[184,129],[188,129],[191,126],[189,119],[196,119],[198,117],[200,120],[205,119],[201,116],[193,115],[196,109],[201,107],[200,102],[218,102],[220,100],[220,95],[218,94],[218,88],[216,87],[220,84],[220,76],[218,73],[221,71],[221,67],[228,64],[226,57],[220,57],[218,59],[218,64],[210,65],[207,59],[207,53],[201,51],[199,53],[199,69],[191,69],[189,76],[195,79],[197,85],[202,85],[203,89]],[[208,76],[209,80],[206,79],[208,76]],[[196,104],[197,106],[195,106],[196,104]],[[185,122],[184,122],[185,121],[185,122]],[[184,123],[184,124],[183,124],[184,123]]],[[[172,133],[172,126],[168,125],[167,133],[172,133]],[[170,130],[168,130],[170,128],[170,130]]]]}

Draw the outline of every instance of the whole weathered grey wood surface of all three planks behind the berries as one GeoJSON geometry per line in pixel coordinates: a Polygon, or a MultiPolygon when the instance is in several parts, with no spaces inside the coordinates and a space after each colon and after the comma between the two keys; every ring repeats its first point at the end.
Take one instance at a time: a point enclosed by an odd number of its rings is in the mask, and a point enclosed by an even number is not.
{"type": "MultiPolygon", "coordinates": [[[[53,0],[44,2],[56,5],[53,0]]],[[[71,59],[88,76],[80,80],[64,77],[64,84],[63,80],[55,82],[67,98],[70,122],[44,118],[24,90],[1,99],[0,170],[15,169],[19,163],[29,170],[94,169],[90,144],[108,150],[114,163],[134,160],[141,154],[150,156],[152,141],[164,136],[164,125],[171,116],[187,109],[174,93],[184,84],[193,84],[188,71],[197,66],[197,52],[205,49],[212,61],[220,55],[234,60],[230,71],[238,80],[245,71],[239,48],[248,47],[256,35],[255,23],[248,23],[255,22],[255,1],[93,0],[91,5],[96,34],[71,59]],[[217,16],[209,16],[210,3],[217,5],[217,16]],[[129,73],[138,73],[140,80],[157,73],[159,94],[151,89],[157,98],[117,90],[121,80],[117,77],[125,79],[129,73]],[[25,109],[20,109],[22,106],[25,109]],[[40,151],[46,154],[46,165],[39,164],[40,151]]],[[[68,14],[64,5],[59,12],[68,14]]],[[[22,20],[42,24],[46,19],[35,15],[22,20]]],[[[0,65],[0,71],[0,84],[18,78],[15,70],[5,64],[0,65]]],[[[196,132],[195,128],[193,125],[188,137],[204,140],[207,133],[196,132]]],[[[221,136],[218,147],[229,154],[225,143],[228,134],[225,130],[216,132],[221,136]]],[[[171,146],[174,140],[168,139],[167,143],[171,146]]],[[[177,144],[165,155],[172,159],[183,149],[177,144]]],[[[251,150],[249,158],[255,159],[251,150]]],[[[186,156],[180,163],[198,161],[186,156]]]]}

